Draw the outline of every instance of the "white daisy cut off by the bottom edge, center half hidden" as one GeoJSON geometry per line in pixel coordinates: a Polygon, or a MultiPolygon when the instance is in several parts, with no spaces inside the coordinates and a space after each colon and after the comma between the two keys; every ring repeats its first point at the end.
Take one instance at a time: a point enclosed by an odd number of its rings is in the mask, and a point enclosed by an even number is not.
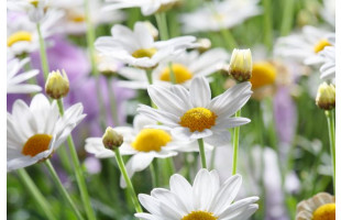
{"type": "Polygon", "coordinates": [[[255,204],[258,197],[234,201],[241,185],[240,175],[221,184],[217,170],[200,169],[193,186],[175,174],[170,177],[169,190],[155,188],[151,196],[139,195],[150,213],[135,213],[135,217],[144,220],[246,220],[258,209],[255,204]]]}

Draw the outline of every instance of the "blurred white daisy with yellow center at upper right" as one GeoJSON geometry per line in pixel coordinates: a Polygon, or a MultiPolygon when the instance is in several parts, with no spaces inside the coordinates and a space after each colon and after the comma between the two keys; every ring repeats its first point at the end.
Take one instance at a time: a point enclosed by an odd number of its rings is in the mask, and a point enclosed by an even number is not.
{"type": "Polygon", "coordinates": [[[319,64],[323,58],[318,53],[326,46],[336,44],[334,35],[332,32],[307,25],[300,34],[279,37],[274,54],[302,62],[305,65],[319,64]]]}

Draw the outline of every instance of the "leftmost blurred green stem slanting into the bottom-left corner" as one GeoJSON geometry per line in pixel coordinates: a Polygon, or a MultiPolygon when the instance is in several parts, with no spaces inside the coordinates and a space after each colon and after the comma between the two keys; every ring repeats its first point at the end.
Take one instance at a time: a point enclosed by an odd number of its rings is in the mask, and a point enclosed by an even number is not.
{"type": "Polygon", "coordinates": [[[56,220],[55,216],[51,211],[50,204],[44,198],[40,189],[35,186],[32,178],[29,176],[28,172],[24,168],[18,169],[19,177],[21,182],[25,185],[25,187],[29,189],[35,201],[41,207],[41,210],[46,215],[46,218],[48,220],[56,220]]]}

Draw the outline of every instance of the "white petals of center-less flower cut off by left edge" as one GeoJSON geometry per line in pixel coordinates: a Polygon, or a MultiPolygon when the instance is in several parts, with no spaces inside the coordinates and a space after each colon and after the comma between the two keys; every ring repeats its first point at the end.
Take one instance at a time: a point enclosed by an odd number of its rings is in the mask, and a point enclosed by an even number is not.
{"type": "Polygon", "coordinates": [[[35,77],[40,72],[32,69],[29,72],[20,73],[25,64],[30,62],[30,58],[19,61],[13,58],[7,64],[7,92],[8,94],[31,94],[41,91],[42,88],[37,85],[22,84],[23,81],[35,77]]]}

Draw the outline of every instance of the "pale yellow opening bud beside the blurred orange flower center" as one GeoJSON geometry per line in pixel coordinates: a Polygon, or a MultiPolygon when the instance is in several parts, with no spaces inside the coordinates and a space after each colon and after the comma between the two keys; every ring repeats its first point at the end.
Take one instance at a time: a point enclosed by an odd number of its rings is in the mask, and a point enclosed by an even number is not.
{"type": "Polygon", "coordinates": [[[230,68],[230,75],[238,81],[246,81],[252,75],[252,55],[250,48],[233,50],[230,68]]]}

